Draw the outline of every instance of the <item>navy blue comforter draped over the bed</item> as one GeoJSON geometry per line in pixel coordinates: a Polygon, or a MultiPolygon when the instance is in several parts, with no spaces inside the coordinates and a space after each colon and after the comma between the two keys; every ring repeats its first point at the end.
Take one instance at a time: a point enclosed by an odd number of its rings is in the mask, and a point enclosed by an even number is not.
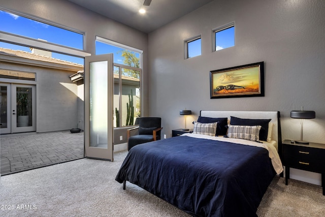
{"type": "Polygon", "coordinates": [[[194,216],[256,216],[274,175],[265,148],[179,136],[131,148],[116,180],[194,216]]]}

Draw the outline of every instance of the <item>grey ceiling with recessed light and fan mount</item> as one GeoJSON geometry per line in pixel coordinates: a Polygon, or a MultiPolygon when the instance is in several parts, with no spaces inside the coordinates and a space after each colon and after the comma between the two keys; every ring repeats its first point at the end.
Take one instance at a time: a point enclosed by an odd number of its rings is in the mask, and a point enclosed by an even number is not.
{"type": "Polygon", "coordinates": [[[144,6],[145,0],[68,0],[91,11],[126,24],[141,32],[153,30],[188,14],[214,0],[152,0],[144,6]],[[145,14],[139,10],[145,9],[145,14]]]}

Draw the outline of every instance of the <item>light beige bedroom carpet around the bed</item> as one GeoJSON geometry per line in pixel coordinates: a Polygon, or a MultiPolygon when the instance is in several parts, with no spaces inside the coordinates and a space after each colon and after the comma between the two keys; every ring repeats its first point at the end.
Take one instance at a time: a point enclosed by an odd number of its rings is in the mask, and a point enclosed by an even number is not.
{"type": "MultiPolygon", "coordinates": [[[[0,216],[189,216],[129,182],[122,190],[115,176],[126,153],[2,176],[0,216]]],[[[325,196],[317,185],[275,177],[257,214],[325,216],[325,196]]]]}

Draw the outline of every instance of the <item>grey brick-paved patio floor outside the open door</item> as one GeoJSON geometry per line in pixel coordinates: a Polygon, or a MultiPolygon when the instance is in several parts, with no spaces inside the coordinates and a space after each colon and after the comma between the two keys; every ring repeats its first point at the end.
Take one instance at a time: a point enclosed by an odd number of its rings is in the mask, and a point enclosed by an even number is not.
{"type": "Polygon", "coordinates": [[[84,157],[84,134],[70,131],[0,136],[0,173],[7,175],[84,157]]]}

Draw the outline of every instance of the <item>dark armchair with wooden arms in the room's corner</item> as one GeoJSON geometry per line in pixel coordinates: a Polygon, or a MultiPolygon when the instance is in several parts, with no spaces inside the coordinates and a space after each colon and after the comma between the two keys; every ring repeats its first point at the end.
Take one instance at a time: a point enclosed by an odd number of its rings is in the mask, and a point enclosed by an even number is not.
{"type": "Polygon", "coordinates": [[[139,127],[127,130],[127,150],[138,144],[159,140],[161,129],[160,117],[141,117],[139,127]],[[135,130],[138,130],[138,135],[131,136],[135,130]]]}

